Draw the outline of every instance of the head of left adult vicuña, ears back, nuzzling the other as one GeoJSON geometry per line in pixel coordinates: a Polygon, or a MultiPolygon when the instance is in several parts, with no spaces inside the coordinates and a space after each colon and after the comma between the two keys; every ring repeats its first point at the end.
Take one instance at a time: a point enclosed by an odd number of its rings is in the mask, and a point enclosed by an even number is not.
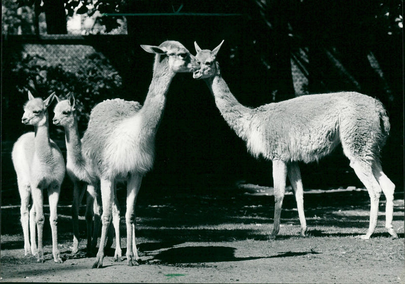
{"type": "Polygon", "coordinates": [[[181,43],[175,40],[166,40],[159,46],[141,45],[141,47],[149,53],[160,56],[156,63],[167,60],[169,68],[174,73],[194,72],[199,68],[195,57],[181,43]]]}

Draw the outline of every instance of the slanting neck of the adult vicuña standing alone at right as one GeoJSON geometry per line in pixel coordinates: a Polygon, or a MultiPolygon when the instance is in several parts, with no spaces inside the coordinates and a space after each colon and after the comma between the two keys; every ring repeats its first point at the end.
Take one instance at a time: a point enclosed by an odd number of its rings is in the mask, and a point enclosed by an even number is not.
{"type": "Polygon", "coordinates": [[[228,85],[221,76],[219,64],[216,62],[215,75],[205,79],[208,88],[214,95],[222,117],[235,133],[242,139],[246,139],[248,123],[252,114],[252,109],[240,104],[230,92],[228,85]]]}

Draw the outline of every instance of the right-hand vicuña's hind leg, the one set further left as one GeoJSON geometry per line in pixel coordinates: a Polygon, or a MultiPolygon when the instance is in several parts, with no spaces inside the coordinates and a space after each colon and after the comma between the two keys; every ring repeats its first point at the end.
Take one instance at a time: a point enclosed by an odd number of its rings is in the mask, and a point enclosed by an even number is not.
{"type": "Polygon", "coordinates": [[[361,160],[350,161],[350,167],[353,168],[357,177],[366,186],[367,191],[370,195],[371,206],[370,206],[370,225],[369,230],[365,235],[360,235],[359,238],[369,239],[374,233],[377,225],[378,217],[378,205],[381,195],[381,187],[375,179],[372,171],[371,165],[361,160]]]}

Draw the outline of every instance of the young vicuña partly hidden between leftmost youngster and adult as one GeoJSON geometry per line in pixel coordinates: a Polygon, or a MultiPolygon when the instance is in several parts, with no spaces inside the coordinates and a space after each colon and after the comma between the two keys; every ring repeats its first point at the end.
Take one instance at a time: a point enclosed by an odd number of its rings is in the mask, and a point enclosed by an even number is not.
{"type": "MultiPolygon", "coordinates": [[[[93,254],[97,246],[97,237],[101,223],[101,199],[99,196],[100,185],[98,178],[93,174],[90,164],[82,154],[82,141],[80,141],[77,129],[77,116],[75,109],[75,98],[72,93],[66,100],[59,99],[55,95],[58,103],[54,109],[53,123],[62,126],[65,129],[66,141],[66,171],[73,183],[73,204],[72,204],[72,222],[73,222],[73,249],[72,255],[78,252],[79,229],[78,229],[78,210],[80,201],[85,191],[86,199],[86,224],[87,224],[87,253],[93,254]],[[87,189],[87,190],[85,190],[87,189]],[[94,230],[92,236],[92,225],[94,217],[94,230]]],[[[121,246],[119,235],[119,206],[116,198],[112,205],[112,220],[115,228],[115,254],[114,259],[121,259],[121,246]]],[[[108,242],[112,243],[112,234],[108,237],[108,242]]],[[[106,245],[108,246],[108,245],[106,245]]]]}

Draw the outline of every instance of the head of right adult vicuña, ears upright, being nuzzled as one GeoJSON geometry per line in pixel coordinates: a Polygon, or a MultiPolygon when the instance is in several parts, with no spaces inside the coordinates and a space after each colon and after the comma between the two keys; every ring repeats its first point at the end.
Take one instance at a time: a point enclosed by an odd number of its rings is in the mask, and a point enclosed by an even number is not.
{"type": "Polygon", "coordinates": [[[215,59],[217,58],[217,54],[219,49],[221,48],[224,40],[217,46],[213,51],[204,49],[202,50],[198,45],[197,42],[194,42],[195,51],[197,54],[195,58],[197,59],[200,68],[193,73],[194,79],[205,79],[212,77],[215,72],[217,71],[215,65],[215,59]]]}

